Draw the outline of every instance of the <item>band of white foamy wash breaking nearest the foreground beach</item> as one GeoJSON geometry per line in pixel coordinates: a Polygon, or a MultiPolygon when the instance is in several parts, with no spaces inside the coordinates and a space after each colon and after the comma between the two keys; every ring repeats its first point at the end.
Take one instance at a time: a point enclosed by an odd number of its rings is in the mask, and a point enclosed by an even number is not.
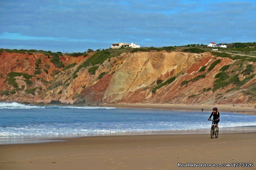
{"type": "MultiPolygon", "coordinates": [[[[88,134],[113,134],[120,132],[141,132],[141,131],[168,131],[168,130],[196,130],[196,129],[210,129],[211,123],[184,125],[182,122],[170,124],[154,124],[154,125],[141,125],[141,124],[122,124],[120,127],[108,127],[101,123],[94,125],[91,123],[83,124],[47,124],[47,125],[33,125],[23,127],[0,127],[0,137],[10,136],[58,136],[58,135],[88,135],[88,134]]],[[[254,127],[255,122],[248,123],[225,123],[220,124],[222,128],[235,128],[235,127],[254,127]]]]}

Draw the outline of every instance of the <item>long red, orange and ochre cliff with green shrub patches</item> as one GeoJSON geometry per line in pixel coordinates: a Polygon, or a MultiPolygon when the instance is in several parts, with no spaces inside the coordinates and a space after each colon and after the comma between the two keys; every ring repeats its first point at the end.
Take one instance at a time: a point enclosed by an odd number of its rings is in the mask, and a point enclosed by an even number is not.
{"type": "Polygon", "coordinates": [[[2,52],[0,99],[71,104],[255,104],[256,63],[248,58],[217,57],[210,52],[112,52],[60,56],[66,68],[52,63],[52,56],[2,52]]]}

